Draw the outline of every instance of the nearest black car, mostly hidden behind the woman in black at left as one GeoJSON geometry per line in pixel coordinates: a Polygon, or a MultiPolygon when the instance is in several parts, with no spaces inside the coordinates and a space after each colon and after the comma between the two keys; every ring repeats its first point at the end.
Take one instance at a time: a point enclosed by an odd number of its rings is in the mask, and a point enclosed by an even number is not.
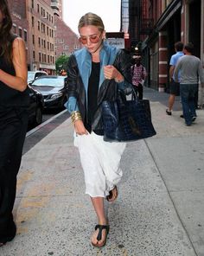
{"type": "Polygon", "coordinates": [[[40,92],[29,86],[29,125],[40,125],[44,108],[44,99],[40,92]]]}

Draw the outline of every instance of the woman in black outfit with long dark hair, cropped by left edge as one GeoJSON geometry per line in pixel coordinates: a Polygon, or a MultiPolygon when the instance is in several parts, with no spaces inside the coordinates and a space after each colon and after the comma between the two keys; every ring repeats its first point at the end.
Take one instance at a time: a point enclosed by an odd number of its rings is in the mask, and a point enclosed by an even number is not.
{"type": "Polygon", "coordinates": [[[0,246],[13,240],[16,176],[28,123],[26,50],[22,38],[12,35],[8,3],[0,1],[0,246]]]}

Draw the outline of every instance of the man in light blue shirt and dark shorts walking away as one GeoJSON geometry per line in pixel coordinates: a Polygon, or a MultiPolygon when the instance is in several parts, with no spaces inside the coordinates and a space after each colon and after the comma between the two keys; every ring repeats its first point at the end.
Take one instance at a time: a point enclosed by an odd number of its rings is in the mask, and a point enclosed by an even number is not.
{"type": "Polygon", "coordinates": [[[183,43],[175,42],[175,54],[173,54],[170,58],[170,68],[169,68],[169,81],[170,81],[170,96],[169,96],[169,108],[166,110],[166,113],[170,116],[172,108],[175,103],[175,96],[180,95],[180,75],[178,75],[178,82],[175,82],[175,66],[179,58],[181,58],[183,54],[183,43]]]}

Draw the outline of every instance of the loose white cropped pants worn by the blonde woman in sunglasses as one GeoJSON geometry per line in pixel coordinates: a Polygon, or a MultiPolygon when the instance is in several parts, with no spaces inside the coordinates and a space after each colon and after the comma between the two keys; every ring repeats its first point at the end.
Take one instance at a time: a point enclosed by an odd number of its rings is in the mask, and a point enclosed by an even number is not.
{"type": "Polygon", "coordinates": [[[113,189],[123,172],[119,168],[125,143],[105,142],[103,136],[74,133],[74,145],[80,151],[80,161],[85,175],[86,194],[105,197],[113,189]]]}

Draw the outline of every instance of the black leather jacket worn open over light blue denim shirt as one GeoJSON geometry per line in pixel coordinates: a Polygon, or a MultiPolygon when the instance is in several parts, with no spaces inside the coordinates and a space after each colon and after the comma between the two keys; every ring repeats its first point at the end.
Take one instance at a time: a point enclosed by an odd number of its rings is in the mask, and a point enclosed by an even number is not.
{"type": "MultiPolygon", "coordinates": [[[[82,60],[83,61],[83,60],[82,60]]],[[[117,83],[114,79],[103,80],[99,86],[98,94],[98,108],[95,112],[94,118],[92,120],[92,130],[102,130],[102,120],[101,120],[101,103],[103,100],[114,100],[117,97],[118,88],[124,89],[129,87],[131,83],[131,58],[128,54],[125,54],[124,50],[119,50],[115,56],[115,60],[112,65],[118,69],[118,71],[123,74],[124,82],[117,83]]],[[[84,125],[86,126],[86,88],[83,82],[84,70],[79,70],[79,62],[77,62],[76,56],[73,54],[70,56],[67,63],[67,109],[69,112],[74,110],[79,110],[84,125]],[[82,74],[82,75],[81,75],[82,74]],[[70,107],[69,99],[77,99],[76,106],[70,107]]],[[[88,72],[86,70],[86,72],[88,72]]],[[[102,71],[103,72],[103,71],[102,71]]],[[[70,100],[71,101],[71,100],[70,100]]]]}

